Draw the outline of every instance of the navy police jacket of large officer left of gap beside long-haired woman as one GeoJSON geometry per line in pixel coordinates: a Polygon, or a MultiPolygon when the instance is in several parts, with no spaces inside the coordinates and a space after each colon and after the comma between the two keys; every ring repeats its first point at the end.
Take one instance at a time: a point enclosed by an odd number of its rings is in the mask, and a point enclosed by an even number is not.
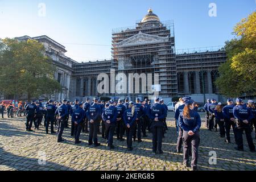
{"type": "Polygon", "coordinates": [[[158,118],[159,121],[163,121],[163,119],[166,117],[166,113],[167,110],[163,105],[155,103],[151,105],[150,110],[148,110],[148,117],[150,117],[152,120],[158,118]]]}

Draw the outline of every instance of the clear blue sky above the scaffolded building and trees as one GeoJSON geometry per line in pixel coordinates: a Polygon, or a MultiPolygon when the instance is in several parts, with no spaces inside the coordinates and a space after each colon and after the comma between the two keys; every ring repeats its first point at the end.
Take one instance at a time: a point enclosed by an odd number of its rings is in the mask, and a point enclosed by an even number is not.
{"type": "Polygon", "coordinates": [[[255,11],[255,0],[0,0],[0,38],[47,35],[76,61],[109,59],[112,29],[134,26],[151,7],[160,20],[174,19],[176,49],[223,46],[234,25],[255,11]],[[39,16],[45,3],[46,16],[39,16]],[[208,15],[216,3],[217,16],[208,15]],[[101,44],[85,46],[78,44],[101,44]]]}

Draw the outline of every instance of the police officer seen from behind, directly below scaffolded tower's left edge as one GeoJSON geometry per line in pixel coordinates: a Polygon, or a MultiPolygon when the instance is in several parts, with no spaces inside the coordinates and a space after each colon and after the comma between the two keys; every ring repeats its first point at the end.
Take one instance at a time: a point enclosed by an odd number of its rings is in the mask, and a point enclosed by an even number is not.
{"type": "Polygon", "coordinates": [[[108,138],[108,147],[109,149],[114,149],[113,146],[113,136],[114,129],[117,123],[117,108],[114,106],[114,101],[109,101],[109,107],[107,107],[102,113],[102,119],[105,122],[106,126],[106,136],[108,138]]]}

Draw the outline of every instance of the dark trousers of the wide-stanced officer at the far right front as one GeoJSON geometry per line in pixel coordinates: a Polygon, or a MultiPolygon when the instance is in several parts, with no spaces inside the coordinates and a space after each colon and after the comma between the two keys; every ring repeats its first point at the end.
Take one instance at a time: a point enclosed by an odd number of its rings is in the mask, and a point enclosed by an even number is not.
{"type": "Polygon", "coordinates": [[[245,131],[246,139],[248,146],[251,151],[255,150],[255,146],[253,144],[253,138],[251,138],[251,129],[248,125],[247,127],[237,128],[237,146],[240,149],[243,149],[243,130],[245,131]]]}

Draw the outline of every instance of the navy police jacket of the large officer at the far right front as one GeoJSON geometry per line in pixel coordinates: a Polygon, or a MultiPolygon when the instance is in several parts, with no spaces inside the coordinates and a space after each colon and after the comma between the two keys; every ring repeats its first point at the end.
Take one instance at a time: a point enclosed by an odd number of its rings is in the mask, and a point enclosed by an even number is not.
{"type": "Polygon", "coordinates": [[[234,117],[236,117],[237,127],[243,127],[249,125],[249,123],[242,122],[247,119],[250,122],[253,119],[253,114],[251,113],[251,109],[246,107],[246,105],[236,105],[233,108],[234,117]]]}

